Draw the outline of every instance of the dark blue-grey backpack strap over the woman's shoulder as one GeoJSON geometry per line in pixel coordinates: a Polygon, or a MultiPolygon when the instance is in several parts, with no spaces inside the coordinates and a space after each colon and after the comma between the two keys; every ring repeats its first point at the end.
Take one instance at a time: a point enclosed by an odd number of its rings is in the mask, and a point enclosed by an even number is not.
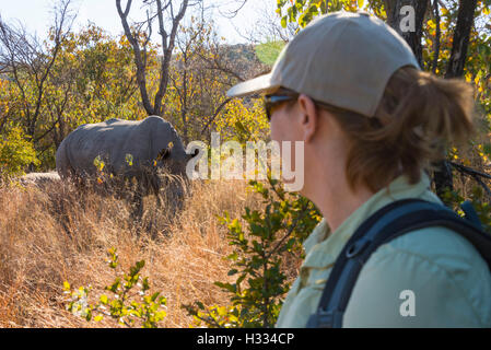
{"type": "Polygon", "coordinates": [[[421,199],[394,201],[371,215],[348,241],[335,262],[317,312],[309,317],[307,327],[341,327],[360,270],[372,253],[399,235],[426,226],[445,226],[463,234],[488,264],[491,262],[491,237],[471,221],[461,219],[439,203],[421,199]]]}

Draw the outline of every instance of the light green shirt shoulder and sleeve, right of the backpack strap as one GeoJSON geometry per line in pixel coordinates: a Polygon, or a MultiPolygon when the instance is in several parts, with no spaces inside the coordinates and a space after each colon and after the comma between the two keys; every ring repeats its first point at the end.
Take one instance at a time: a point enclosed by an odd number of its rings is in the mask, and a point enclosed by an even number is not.
{"type": "Polygon", "coordinates": [[[446,228],[409,232],[363,266],[346,327],[490,327],[491,273],[474,245],[446,228]],[[414,315],[401,307],[414,303],[414,315]]]}

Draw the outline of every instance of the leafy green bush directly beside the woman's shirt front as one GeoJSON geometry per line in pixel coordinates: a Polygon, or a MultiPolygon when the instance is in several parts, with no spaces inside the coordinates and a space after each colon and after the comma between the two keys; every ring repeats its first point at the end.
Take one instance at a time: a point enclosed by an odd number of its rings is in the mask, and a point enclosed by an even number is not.
{"type": "Polygon", "coordinates": [[[272,327],[290,289],[281,266],[285,254],[301,254],[302,242],[320,220],[314,205],[296,194],[284,192],[277,180],[249,185],[264,198],[265,211],[245,208],[242,217],[248,228],[225,213],[227,238],[235,247],[229,276],[234,283],[215,282],[231,298],[231,305],[204,307],[201,302],[183,305],[195,317],[195,325],[208,327],[272,327]]]}

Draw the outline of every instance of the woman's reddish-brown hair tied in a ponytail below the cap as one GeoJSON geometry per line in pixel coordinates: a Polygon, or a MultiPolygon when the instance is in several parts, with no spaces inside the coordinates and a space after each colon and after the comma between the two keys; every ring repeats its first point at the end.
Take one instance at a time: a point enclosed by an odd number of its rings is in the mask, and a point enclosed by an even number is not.
{"type": "Polygon", "coordinates": [[[374,117],[335,108],[348,136],[348,183],[376,192],[398,175],[410,184],[421,170],[445,158],[449,143],[463,144],[475,131],[474,91],[464,81],[441,79],[404,67],[387,83],[374,117]]]}

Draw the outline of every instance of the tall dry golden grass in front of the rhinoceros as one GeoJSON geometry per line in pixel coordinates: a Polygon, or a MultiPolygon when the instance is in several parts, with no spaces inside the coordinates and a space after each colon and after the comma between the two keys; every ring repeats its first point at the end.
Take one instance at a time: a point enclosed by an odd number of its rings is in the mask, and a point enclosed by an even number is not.
{"type": "Polygon", "coordinates": [[[60,184],[44,190],[0,188],[0,327],[117,326],[71,315],[62,293],[63,281],[104,293],[115,278],[106,262],[110,247],[117,248],[125,271],[145,260],[142,275],[167,298],[164,327],[191,324],[182,304],[227,305],[227,295],[213,285],[230,279],[224,257],[232,253],[217,215],[226,210],[239,218],[245,206],[257,208],[260,201],[245,187],[242,182],[195,182],[174,215],[147,198],[143,226],[152,222],[152,232],[140,235],[128,223],[124,201],[93,194],[81,201],[73,188],[60,184]]]}

